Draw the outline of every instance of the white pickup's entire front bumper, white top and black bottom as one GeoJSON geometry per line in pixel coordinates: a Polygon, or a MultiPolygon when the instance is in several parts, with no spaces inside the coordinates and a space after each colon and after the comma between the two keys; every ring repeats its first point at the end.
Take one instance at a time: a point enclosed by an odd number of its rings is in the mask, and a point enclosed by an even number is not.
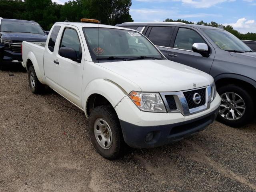
{"type": "Polygon", "coordinates": [[[220,106],[220,96],[217,94],[209,109],[183,116],[180,113],[142,112],[130,101],[130,98],[122,99],[115,109],[124,141],[133,148],[170,144],[204,130],[214,122],[220,106]],[[146,135],[150,132],[153,133],[153,139],[146,142],[146,135]]]}

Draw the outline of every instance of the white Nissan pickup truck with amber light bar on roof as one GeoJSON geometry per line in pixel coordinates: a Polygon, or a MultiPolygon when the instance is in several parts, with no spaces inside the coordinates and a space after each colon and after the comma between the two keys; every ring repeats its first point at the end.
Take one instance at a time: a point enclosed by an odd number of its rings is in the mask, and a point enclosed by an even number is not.
{"type": "Polygon", "coordinates": [[[213,78],[167,60],[136,30],[58,22],[46,46],[22,43],[34,94],[50,86],[84,111],[96,150],[156,147],[211,124],[220,107],[213,78]]]}

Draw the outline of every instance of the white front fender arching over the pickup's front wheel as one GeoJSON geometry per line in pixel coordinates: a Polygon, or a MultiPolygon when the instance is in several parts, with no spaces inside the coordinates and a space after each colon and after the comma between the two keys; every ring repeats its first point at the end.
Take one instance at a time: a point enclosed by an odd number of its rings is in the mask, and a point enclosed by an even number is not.
{"type": "Polygon", "coordinates": [[[113,106],[113,108],[116,107],[118,102],[122,100],[125,96],[128,95],[126,90],[122,88],[120,85],[118,85],[116,82],[113,82],[109,79],[96,79],[90,82],[86,88],[83,91],[83,98],[84,98],[84,104],[83,109],[85,111],[86,117],[88,117],[87,114],[87,102],[89,97],[92,94],[100,94],[104,96],[110,104],[113,106]]]}

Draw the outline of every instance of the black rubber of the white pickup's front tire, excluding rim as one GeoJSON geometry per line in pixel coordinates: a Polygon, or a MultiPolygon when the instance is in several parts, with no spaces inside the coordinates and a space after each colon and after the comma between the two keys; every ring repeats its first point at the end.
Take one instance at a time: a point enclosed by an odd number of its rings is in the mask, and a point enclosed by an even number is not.
{"type": "Polygon", "coordinates": [[[119,119],[112,106],[102,105],[94,108],[89,117],[89,133],[92,144],[100,155],[108,160],[114,160],[120,157],[121,149],[124,147],[124,140],[119,119]],[[96,139],[96,134],[94,134],[94,124],[99,119],[105,120],[112,132],[112,145],[108,149],[100,146],[96,139]]]}

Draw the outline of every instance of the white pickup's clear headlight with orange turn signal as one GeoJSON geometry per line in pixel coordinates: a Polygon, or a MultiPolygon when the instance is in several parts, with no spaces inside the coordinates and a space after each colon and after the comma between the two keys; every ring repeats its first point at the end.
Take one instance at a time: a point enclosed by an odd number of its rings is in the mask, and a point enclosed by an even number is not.
{"type": "Polygon", "coordinates": [[[142,111],[166,113],[164,102],[159,93],[142,93],[132,91],[129,97],[142,111]]]}

